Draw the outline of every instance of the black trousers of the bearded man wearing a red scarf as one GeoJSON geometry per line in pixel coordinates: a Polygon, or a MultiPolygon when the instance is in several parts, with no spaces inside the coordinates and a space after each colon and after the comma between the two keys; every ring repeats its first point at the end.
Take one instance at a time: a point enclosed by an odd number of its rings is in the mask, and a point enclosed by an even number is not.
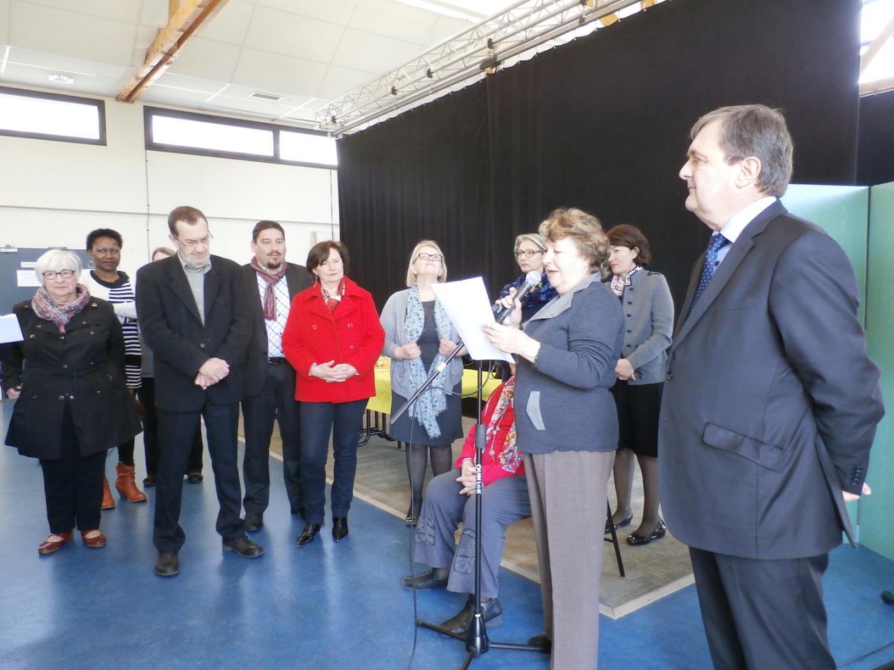
{"type": "Polygon", "coordinates": [[[299,406],[295,400],[295,370],[288,363],[268,363],[264,387],[257,396],[242,398],[245,428],[245,481],[243,504],[246,514],[264,514],[270,503],[270,438],[274,419],[283,440],[283,479],[292,514],[303,512],[301,499],[301,440],[299,406]]]}

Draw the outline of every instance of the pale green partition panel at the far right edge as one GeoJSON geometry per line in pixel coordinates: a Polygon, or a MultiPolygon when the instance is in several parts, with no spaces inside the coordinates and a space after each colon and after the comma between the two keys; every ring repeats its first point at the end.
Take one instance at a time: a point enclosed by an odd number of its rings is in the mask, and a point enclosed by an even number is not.
{"type": "Polygon", "coordinates": [[[881,367],[888,415],[881,420],[869,461],[873,495],[860,500],[860,538],[894,560],[894,182],[873,186],[869,211],[866,335],[881,367]]]}

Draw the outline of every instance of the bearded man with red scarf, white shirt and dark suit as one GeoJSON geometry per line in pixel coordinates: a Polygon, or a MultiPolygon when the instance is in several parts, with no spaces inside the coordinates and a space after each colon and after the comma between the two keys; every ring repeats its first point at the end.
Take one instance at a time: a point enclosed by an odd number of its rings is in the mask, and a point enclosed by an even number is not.
{"type": "Polygon", "coordinates": [[[252,330],[245,373],[245,530],[264,525],[270,501],[270,438],[274,418],[283,440],[283,476],[293,515],[303,515],[299,465],[298,401],[295,370],[283,356],[283,330],[291,299],[310,286],[303,265],[286,263],[285,231],[274,221],[257,222],[251,232],[255,257],[242,267],[248,281],[252,330]]]}

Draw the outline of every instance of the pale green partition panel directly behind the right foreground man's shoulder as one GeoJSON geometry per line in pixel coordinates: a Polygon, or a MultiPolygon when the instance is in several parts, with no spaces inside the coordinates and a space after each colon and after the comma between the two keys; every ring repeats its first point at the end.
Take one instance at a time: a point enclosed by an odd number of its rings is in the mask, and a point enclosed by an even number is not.
{"type": "MultiPolygon", "coordinates": [[[[782,204],[792,214],[816,223],[844,249],[856,273],[860,290],[859,318],[865,326],[869,188],[791,184],[782,197],[782,204]]],[[[862,521],[859,503],[848,503],[848,514],[857,532],[863,532],[862,527],[857,528],[862,521]]]]}

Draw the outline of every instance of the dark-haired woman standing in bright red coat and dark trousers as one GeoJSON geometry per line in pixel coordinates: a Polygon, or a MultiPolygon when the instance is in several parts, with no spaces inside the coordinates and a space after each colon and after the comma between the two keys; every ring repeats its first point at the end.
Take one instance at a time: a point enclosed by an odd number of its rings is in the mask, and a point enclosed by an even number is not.
{"type": "Polygon", "coordinates": [[[291,303],[283,353],[295,368],[301,419],[301,488],[305,526],[298,546],[309,544],[323,524],[326,456],[333,436],[333,540],[348,535],[354,496],[357,440],[367,400],[375,395],[373,366],[384,331],[373,298],[345,276],[348,249],[327,239],[308,253],[314,285],[291,303]]]}

